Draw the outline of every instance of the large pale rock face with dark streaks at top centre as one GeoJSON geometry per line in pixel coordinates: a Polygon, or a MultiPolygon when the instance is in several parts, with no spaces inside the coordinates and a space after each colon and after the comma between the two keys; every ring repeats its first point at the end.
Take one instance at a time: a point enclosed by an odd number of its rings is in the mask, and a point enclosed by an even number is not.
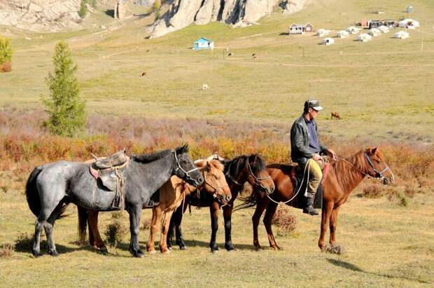
{"type": "MultiPolygon", "coordinates": [[[[291,0],[304,1],[304,0],[291,0]]],[[[187,27],[193,22],[204,25],[220,21],[235,27],[257,24],[269,15],[281,0],[173,0],[169,11],[156,21],[151,38],[187,27]]]]}

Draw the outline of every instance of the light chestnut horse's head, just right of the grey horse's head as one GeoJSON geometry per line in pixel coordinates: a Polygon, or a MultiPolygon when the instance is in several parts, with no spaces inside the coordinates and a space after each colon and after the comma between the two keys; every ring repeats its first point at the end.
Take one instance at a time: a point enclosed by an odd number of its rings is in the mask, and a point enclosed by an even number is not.
{"type": "Polygon", "coordinates": [[[224,165],[218,159],[196,160],[195,165],[202,170],[204,183],[202,191],[213,196],[218,202],[225,205],[232,198],[228,182],[226,181],[224,165]]]}

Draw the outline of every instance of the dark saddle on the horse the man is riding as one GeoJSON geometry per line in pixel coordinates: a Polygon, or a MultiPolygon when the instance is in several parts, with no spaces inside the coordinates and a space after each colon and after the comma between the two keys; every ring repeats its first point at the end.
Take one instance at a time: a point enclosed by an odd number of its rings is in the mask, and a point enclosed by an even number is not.
{"type": "MultiPolygon", "coordinates": [[[[323,172],[323,178],[321,179],[318,189],[316,190],[315,196],[314,196],[314,208],[316,209],[322,209],[323,207],[323,183],[327,177],[328,174],[328,163],[323,163],[324,165],[320,165],[321,171],[323,172]]],[[[296,191],[299,191],[297,196],[294,200],[291,201],[293,203],[293,207],[296,208],[304,208],[304,205],[306,203],[306,197],[304,196],[304,191],[306,191],[307,188],[307,176],[304,177],[303,181],[303,175],[304,170],[299,165],[292,166],[290,169],[290,180],[293,184],[293,187],[296,191]],[[300,185],[302,185],[300,187],[300,185]]]]}

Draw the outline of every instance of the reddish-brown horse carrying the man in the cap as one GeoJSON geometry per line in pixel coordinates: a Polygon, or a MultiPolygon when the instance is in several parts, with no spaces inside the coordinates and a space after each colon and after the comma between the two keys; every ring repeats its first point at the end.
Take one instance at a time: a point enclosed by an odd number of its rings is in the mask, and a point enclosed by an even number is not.
{"type": "MultiPolygon", "coordinates": [[[[293,166],[271,164],[267,165],[267,172],[272,177],[276,189],[274,193],[265,196],[263,193],[255,192],[255,196],[250,199],[250,207],[256,204],[253,214],[253,245],[256,249],[261,249],[258,241],[258,224],[262,213],[266,209],[264,224],[267,230],[269,245],[273,249],[280,249],[276,244],[272,232],[272,219],[276,212],[279,201],[285,202],[295,198],[295,189],[290,180],[290,172],[293,166]],[[270,200],[272,198],[272,200],[270,200]]],[[[328,176],[323,182],[323,208],[321,218],[321,234],[318,246],[325,248],[325,232],[330,222],[330,245],[335,245],[337,214],[342,204],[346,202],[351,191],[365,177],[380,179],[383,184],[390,184],[393,180],[393,173],[384,162],[384,156],[377,147],[368,148],[350,156],[349,158],[338,158],[330,165],[328,176]],[[387,173],[387,176],[386,176],[387,173]]],[[[246,200],[247,202],[248,200],[246,200]]],[[[295,200],[290,200],[287,205],[294,205],[295,200]]],[[[245,207],[248,207],[247,205],[245,207]]]]}

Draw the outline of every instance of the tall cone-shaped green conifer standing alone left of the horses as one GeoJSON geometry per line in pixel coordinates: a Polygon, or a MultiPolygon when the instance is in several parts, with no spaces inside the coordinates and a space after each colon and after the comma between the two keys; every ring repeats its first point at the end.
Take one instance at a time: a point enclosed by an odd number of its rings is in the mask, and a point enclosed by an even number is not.
{"type": "Polygon", "coordinates": [[[52,134],[72,137],[86,121],[85,101],[80,99],[80,89],[75,76],[76,64],[64,41],[57,43],[53,57],[54,74],[48,73],[45,81],[50,89],[48,98],[42,97],[50,118],[43,123],[52,134]]]}

